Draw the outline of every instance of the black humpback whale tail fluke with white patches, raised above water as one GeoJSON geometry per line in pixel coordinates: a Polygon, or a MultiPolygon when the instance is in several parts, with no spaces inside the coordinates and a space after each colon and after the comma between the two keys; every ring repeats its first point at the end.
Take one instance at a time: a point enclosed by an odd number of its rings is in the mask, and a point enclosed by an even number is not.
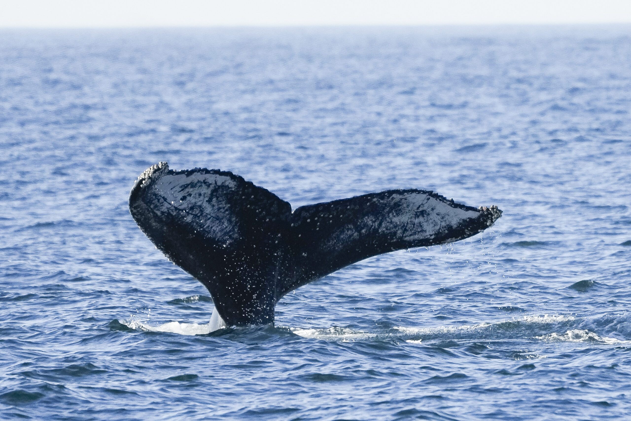
{"type": "Polygon", "coordinates": [[[228,326],[272,323],[276,302],[301,285],[377,254],[471,237],[502,215],[497,206],[476,209],[417,189],[292,212],[232,172],[174,171],[166,162],[138,177],[129,211],[168,259],[208,288],[228,326]]]}

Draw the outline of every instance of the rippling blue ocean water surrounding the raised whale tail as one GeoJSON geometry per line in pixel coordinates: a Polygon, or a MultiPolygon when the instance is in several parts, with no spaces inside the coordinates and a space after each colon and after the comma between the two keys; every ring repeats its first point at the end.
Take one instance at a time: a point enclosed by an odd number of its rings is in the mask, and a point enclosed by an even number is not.
{"type": "Polygon", "coordinates": [[[630,62],[629,26],[0,32],[0,418],[625,419],[630,62]],[[208,333],[127,208],[161,160],[504,215],[208,333]]]}

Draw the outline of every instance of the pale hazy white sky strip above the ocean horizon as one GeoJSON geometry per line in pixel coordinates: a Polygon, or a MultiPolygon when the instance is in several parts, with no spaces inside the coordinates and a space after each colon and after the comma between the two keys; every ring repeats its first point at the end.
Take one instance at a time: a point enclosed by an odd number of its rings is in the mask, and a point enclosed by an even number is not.
{"type": "Polygon", "coordinates": [[[0,27],[631,23],[631,0],[0,0],[0,27]]]}

